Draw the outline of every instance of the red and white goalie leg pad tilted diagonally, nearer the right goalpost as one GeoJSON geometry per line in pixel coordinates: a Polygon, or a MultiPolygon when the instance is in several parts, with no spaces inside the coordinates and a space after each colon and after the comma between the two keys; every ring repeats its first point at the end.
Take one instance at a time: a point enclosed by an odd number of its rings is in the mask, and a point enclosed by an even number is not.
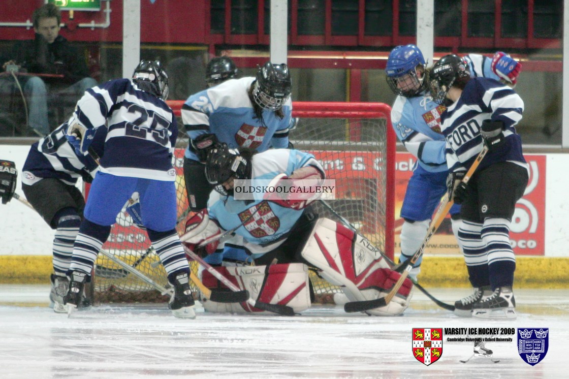
{"type": "MultiPolygon", "coordinates": [[[[339,285],[350,301],[376,299],[389,292],[399,278],[381,252],[352,230],[329,219],[316,221],[301,255],[320,275],[339,285]]],[[[369,311],[373,315],[399,315],[409,305],[413,283],[406,279],[391,303],[369,311]],[[397,299],[395,299],[397,298],[397,299]],[[402,302],[398,302],[402,299],[402,302]]]]}

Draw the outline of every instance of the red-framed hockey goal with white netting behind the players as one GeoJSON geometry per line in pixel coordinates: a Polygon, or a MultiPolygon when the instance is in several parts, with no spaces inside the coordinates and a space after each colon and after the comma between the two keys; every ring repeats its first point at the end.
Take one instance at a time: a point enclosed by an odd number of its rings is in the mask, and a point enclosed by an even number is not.
{"type": "MultiPolygon", "coordinates": [[[[183,101],[169,101],[177,116],[183,101]]],[[[355,102],[293,102],[295,127],[289,141],[295,149],[309,151],[320,161],[328,179],[336,180],[335,199],[324,199],[312,210],[340,224],[349,221],[357,232],[393,259],[394,249],[394,176],[395,133],[391,127],[389,105],[355,102]]],[[[180,123],[181,125],[181,123],[180,123]]],[[[180,133],[180,137],[185,134],[180,133]]],[[[176,146],[176,188],[178,192],[178,231],[188,217],[188,201],[183,176],[184,150],[188,139],[180,138],[176,146]]],[[[166,271],[152,251],[144,230],[133,225],[125,209],[117,216],[109,240],[103,249],[128,265],[142,271],[160,285],[167,284],[166,271]]],[[[93,276],[96,302],[166,301],[150,286],[116,263],[99,254],[93,276]]],[[[197,273],[197,263],[191,267],[197,273]]],[[[317,301],[331,302],[340,292],[311,270],[317,301]]],[[[193,286],[192,290],[197,291],[193,286]]]]}

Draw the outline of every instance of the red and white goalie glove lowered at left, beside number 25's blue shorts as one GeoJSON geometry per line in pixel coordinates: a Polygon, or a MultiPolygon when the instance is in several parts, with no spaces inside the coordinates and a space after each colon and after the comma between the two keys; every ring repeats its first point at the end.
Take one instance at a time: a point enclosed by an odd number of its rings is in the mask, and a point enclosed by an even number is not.
{"type": "Polygon", "coordinates": [[[219,240],[210,242],[209,244],[199,247],[204,241],[214,238],[221,234],[221,229],[213,221],[209,219],[207,209],[203,209],[195,213],[185,223],[185,233],[180,237],[182,243],[192,252],[203,255],[215,253],[219,240]]]}

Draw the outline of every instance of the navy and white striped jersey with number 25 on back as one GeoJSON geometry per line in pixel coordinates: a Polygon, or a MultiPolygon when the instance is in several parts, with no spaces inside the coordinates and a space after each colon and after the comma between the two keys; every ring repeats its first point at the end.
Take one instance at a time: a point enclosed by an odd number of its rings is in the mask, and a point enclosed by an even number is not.
{"type": "Polygon", "coordinates": [[[116,79],[89,88],[77,102],[69,123],[76,120],[90,133],[107,129],[101,172],[133,178],[174,181],[172,157],[178,124],[162,99],[129,79],[116,79]]]}

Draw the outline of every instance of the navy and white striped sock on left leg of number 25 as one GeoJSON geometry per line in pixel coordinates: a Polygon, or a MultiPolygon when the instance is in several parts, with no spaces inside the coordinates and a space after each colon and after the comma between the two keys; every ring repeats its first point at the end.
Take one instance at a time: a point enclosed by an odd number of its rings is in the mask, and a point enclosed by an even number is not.
{"type": "Polygon", "coordinates": [[[89,275],[89,278],[98,253],[109,234],[110,226],[98,225],[87,219],[83,220],[75,245],[73,245],[73,257],[67,271],[68,275],[71,275],[72,271],[83,271],[89,275]]]}

